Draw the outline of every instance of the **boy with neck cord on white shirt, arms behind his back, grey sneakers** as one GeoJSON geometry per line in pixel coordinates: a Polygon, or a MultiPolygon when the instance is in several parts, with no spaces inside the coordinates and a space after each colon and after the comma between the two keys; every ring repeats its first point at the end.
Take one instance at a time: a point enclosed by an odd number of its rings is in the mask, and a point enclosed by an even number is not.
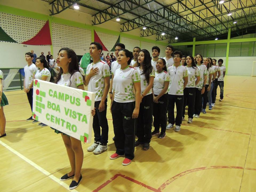
{"type": "Polygon", "coordinates": [[[181,65],[181,51],[174,51],[174,64],[167,68],[170,75],[170,85],[168,88],[168,121],[166,129],[173,128],[175,131],[181,130],[182,107],[183,107],[183,90],[188,82],[187,68],[181,65]],[[174,119],[174,105],[176,104],[177,115],[174,119]]]}

